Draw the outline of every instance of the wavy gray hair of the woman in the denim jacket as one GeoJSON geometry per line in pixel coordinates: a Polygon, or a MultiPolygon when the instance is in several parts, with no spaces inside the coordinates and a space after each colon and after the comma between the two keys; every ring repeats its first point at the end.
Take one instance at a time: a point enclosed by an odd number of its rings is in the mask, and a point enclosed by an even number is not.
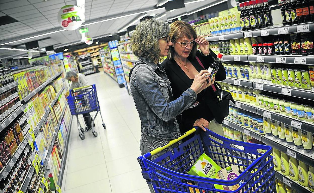
{"type": "Polygon", "coordinates": [[[154,61],[160,58],[158,40],[170,32],[170,27],[163,21],[146,19],[136,26],[132,38],[131,49],[137,57],[154,61]]]}

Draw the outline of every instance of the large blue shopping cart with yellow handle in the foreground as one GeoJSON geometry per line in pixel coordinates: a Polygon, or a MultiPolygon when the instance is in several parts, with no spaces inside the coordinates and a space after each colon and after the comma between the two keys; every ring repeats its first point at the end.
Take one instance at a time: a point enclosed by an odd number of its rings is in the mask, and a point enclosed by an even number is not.
{"type": "Polygon", "coordinates": [[[276,192],[271,152],[270,146],[230,140],[196,127],[178,139],[138,157],[138,162],[151,193],[271,193],[276,192]],[[188,135],[192,137],[187,139],[188,135]],[[183,138],[187,140],[181,143],[183,138]],[[179,142],[181,144],[176,145],[179,142]],[[178,148],[172,152],[162,152],[174,144],[178,148]],[[258,153],[260,151],[265,153],[258,153]],[[240,175],[230,181],[188,175],[187,171],[203,153],[222,168],[237,165],[240,175]],[[151,160],[153,155],[156,158],[151,160]],[[240,181],[243,184],[234,191],[220,190],[214,186],[232,186],[240,181]]]}

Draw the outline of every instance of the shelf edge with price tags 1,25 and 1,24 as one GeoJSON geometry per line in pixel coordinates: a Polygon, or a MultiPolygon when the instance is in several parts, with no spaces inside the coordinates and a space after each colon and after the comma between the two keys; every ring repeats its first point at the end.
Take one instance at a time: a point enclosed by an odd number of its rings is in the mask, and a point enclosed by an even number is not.
{"type": "Polygon", "coordinates": [[[306,121],[300,121],[299,119],[294,119],[292,117],[288,117],[286,115],[276,113],[274,111],[268,111],[266,109],[258,108],[257,114],[282,122],[284,124],[291,125],[292,127],[311,132],[311,133],[313,133],[313,130],[314,130],[314,124],[312,123],[308,123],[306,121]]]}

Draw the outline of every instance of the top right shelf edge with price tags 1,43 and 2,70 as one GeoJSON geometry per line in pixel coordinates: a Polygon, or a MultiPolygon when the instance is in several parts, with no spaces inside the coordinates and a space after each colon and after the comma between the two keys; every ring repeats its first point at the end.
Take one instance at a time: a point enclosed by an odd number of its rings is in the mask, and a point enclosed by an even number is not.
{"type": "Polygon", "coordinates": [[[246,37],[279,35],[279,34],[286,34],[286,33],[305,32],[305,31],[308,31],[308,32],[314,31],[314,22],[250,30],[250,31],[244,32],[244,37],[246,38],[246,37]],[[306,27],[307,29],[303,29],[304,27],[306,27]]]}

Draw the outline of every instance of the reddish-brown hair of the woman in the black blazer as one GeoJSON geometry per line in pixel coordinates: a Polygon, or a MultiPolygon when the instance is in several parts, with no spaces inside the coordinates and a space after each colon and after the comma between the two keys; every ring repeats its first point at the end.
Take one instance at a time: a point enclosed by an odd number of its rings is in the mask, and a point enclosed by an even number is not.
{"type": "MultiPolygon", "coordinates": [[[[195,30],[192,28],[192,26],[189,23],[184,22],[184,21],[175,21],[171,23],[169,36],[170,36],[172,45],[174,45],[176,41],[179,42],[180,39],[184,37],[187,37],[193,40],[197,38],[197,34],[195,30]]],[[[190,53],[190,56],[192,56],[192,58],[195,58],[196,56],[197,46],[198,44],[195,43],[192,48],[192,51],[190,53]]],[[[170,46],[168,58],[173,59],[174,54],[175,54],[175,49],[174,47],[170,46]]]]}

